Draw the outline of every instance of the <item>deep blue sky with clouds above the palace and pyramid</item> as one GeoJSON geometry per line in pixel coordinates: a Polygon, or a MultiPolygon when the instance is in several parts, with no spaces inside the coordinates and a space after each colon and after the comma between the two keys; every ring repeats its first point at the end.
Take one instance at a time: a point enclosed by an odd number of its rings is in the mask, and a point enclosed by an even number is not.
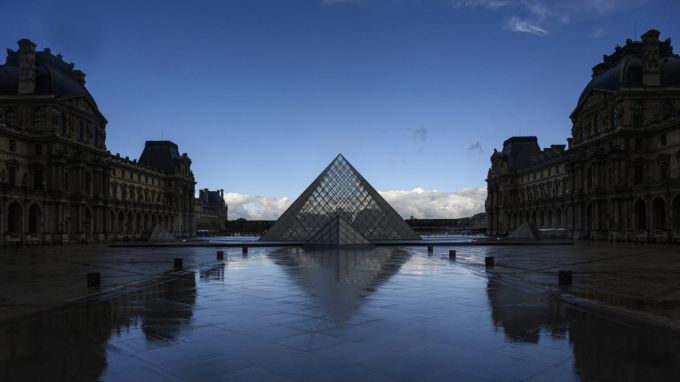
{"type": "Polygon", "coordinates": [[[404,216],[480,212],[503,140],[566,144],[603,54],[651,28],[680,38],[677,0],[3,8],[1,45],[29,38],[87,74],[112,153],[172,140],[197,188],[225,189],[247,218],[278,216],[338,153],[404,216]]]}

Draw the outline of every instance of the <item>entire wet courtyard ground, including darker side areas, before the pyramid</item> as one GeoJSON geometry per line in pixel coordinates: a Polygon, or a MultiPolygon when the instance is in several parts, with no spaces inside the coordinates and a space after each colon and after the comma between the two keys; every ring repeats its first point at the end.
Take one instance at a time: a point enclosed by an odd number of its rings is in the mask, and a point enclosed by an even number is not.
{"type": "Polygon", "coordinates": [[[680,377],[678,332],[666,325],[675,248],[458,247],[455,262],[448,249],[228,248],[221,261],[214,248],[3,250],[0,380],[680,377]],[[574,286],[560,290],[553,276],[565,266],[574,286]],[[87,288],[92,271],[101,288],[87,288]]]}

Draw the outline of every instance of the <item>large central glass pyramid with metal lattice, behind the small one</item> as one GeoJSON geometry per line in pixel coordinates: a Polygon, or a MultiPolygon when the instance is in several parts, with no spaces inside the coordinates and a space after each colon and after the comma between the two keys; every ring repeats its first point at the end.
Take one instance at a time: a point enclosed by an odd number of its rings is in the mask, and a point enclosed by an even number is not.
{"type": "Polygon", "coordinates": [[[370,241],[421,240],[342,154],[260,240],[306,242],[336,215],[370,241]]]}

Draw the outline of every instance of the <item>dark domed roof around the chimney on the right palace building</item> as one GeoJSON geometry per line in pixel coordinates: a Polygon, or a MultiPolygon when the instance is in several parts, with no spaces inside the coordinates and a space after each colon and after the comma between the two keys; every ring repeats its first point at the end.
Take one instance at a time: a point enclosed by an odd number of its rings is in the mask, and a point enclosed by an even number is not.
{"type": "Polygon", "coordinates": [[[604,55],[604,61],[593,68],[593,79],[583,89],[578,103],[592,89],[618,90],[628,87],[642,87],[642,58],[645,44],[659,46],[659,86],[680,87],[680,56],[673,54],[671,39],[658,41],[659,32],[650,30],[643,35],[644,41],[626,40],[622,48],[616,46],[614,54],[604,55]]]}

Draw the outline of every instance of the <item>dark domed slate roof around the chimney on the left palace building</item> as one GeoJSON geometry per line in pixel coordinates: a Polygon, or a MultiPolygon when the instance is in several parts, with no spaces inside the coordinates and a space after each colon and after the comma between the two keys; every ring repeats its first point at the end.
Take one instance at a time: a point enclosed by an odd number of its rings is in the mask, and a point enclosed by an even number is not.
{"type": "MultiPolygon", "coordinates": [[[[73,64],[54,56],[49,48],[35,52],[35,94],[54,94],[57,97],[85,96],[92,106],[97,103],[92,95],[75,79],[73,64]]],[[[7,51],[7,60],[0,66],[0,94],[15,95],[19,92],[19,52],[7,51]]]]}

